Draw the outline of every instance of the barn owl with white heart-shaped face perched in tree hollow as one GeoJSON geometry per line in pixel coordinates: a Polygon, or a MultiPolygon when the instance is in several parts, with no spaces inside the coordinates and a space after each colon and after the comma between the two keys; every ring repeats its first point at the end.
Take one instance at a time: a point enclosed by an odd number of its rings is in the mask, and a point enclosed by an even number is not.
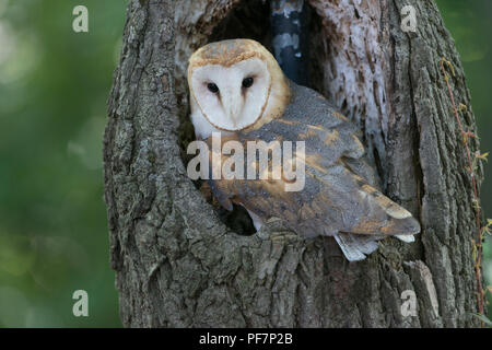
{"type": "Polygon", "coordinates": [[[279,218],[298,235],[333,236],[350,261],[366,258],[387,236],[414,241],[419,222],[377,189],[356,127],[323,95],[284,77],[261,44],[232,39],[201,47],[189,59],[188,85],[197,139],[305,144],[302,159],[295,154],[305,166],[302,190],[285,191],[283,177],[209,178],[224,208],[243,206],[257,230],[279,218]]]}

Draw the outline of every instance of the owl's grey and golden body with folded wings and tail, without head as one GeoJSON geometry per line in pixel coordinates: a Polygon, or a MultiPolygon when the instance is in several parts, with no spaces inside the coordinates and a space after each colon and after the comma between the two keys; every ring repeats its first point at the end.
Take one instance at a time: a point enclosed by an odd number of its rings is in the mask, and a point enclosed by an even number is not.
{"type": "MultiPolygon", "coordinates": [[[[336,236],[350,260],[377,248],[376,237],[419,233],[419,222],[410,212],[377,189],[354,125],[314,91],[296,86],[293,92],[281,118],[239,132],[236,139],[245,150],[248,141],[304,141],[305,154],[294,152],[294,162],[305,166],[304,188],[285,191],[291,182],[283,177],[211,179],[218,200],[225,208],[239,203],[262,220],[283,219],[304,236],[336,236]]],[[[229,158],[221,156],[222,163],[229,158]]]]}

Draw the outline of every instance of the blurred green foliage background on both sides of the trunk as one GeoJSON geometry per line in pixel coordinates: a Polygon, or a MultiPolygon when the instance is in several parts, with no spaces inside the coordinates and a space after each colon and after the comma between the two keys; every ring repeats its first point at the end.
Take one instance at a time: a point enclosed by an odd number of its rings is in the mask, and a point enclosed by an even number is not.
{"type": "MultiPolygon", "coordinates": [[[[467,72],[482,151],[492,150],[492,1],[437,3],[467,72]]],[[[126,4],[0,0],[0,327],[121,326],[102,136],[126,4]],[[89,33],[72,31],[78,4],[89,8],[89,33]],[[89,293],[89,317],[72,315],[79,289],[89,293]]],[[[481,196],[487,217],[491,195],[489,179],[481,196]]]]}

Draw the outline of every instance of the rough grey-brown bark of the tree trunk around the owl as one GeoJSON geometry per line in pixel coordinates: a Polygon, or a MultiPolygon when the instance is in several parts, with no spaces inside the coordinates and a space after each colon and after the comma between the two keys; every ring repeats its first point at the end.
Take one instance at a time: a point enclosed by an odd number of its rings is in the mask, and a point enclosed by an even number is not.
{"type": "Polygon", "coordinates": [[[457,103],[468,106],[467,130],[475,131],[475,118],[435,3],[308,3],[313,88],[360,125],[386,194],[421,221],[418,243],[388,238],[367,260],[349,264],[331,237],[305,241],[278,223],[246,236],[221,222],[186,175],[187,59],[231,36],[268,45],[268,1],[132,0],[104,138],[112,267],[125,326],[479,326],[470,316],[473,197],[442,57],[455,68],[450,84],[457,103]],[[417,33],[400,30],[408,4],[417,10],[417,33]],[[400,312],[405,290],[417,294],[417,316],[400,312]]]}

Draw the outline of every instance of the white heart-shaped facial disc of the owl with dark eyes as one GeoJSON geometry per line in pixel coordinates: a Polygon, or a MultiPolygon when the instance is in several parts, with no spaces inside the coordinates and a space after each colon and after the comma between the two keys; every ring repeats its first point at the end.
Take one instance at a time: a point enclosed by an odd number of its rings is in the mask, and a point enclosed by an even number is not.
{"type": "Polygon", "coordinates": [[[270,95],[271,77],[267,62],[249,58],[231,67],[197,67],[191,84],[207,120],[218,129],[236,131],[261,117],[270,95]]]}

